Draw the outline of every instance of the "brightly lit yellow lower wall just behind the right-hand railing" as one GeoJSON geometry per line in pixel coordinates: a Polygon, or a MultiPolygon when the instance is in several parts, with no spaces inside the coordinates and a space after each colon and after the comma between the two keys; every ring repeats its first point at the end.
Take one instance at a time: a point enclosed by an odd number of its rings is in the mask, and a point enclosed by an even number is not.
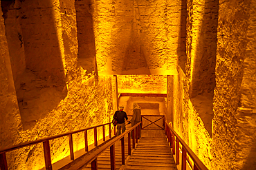
{"type": "Polygon", "coordinates": [[[179,67],[178,75],[174,76],[173,127],[205,166],[212,169],[212,140],[189,99],[188,89],[185,87],[186,79],[187,76],[179,67]]]}

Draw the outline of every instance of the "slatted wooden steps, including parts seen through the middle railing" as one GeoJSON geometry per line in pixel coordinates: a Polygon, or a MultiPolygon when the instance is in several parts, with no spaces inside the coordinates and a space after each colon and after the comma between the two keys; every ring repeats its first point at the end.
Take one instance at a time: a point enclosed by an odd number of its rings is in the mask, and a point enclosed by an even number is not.
{"type": "MultiPolygon", "coordinates": [[[[128,156],[128,142],[125,138],[125,158],[128,156]]],[[[132,146],[131,146],[132,147],[132,146]]],[[[121,142],[115,144],[116,169],[169,169],[176,170],[166,138],[140,138],[138,145],[128,157],[126,164],[121,161],[121,142]]],[[[107,149],[98,157],[98,169],[110,169],[110,151],[107,149]]],[[[91,169],[91,164],[82,167],[82,170],[91,169]]]]}

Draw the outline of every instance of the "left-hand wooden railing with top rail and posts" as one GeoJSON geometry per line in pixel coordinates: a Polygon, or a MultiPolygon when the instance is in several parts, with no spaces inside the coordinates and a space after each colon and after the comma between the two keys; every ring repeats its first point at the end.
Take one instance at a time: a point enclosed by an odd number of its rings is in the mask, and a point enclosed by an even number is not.
{"type": "MultiPolygon", "coordinates": [[[[72,135],[84,131],[85,151],[89,151],[87,131],[89,129],[94,129],[94,146],[97,147],[98,146],[97,128],[102,127],[103,141],[105,142],[106,141],[106,135],[105,135],[106,134],[105,133],[105,126],[106,125],[109,126],[109,138],[111,138],[111,123],[105,123],[105,124],[102,124],[102,125],[98,125],[98,126],[94,126],[94,127],[88,127],[86,129],[80,129],[80,130],[72,131],[72,132],[69,132],[69,133],[66,133],[66,134],[60,134],[60,135],[57,135],[57,136],[51,136],[51,137],[43,138],[43,139],[39,139],[39,140],[34,140],[34,141],[31,141],[31,142],[23,143],[21,145],[16,145],[14,147],[9,147],[9,148],[3,149],[3,150],[0,151],[0,169],[1,170],[8,170],[8,164],[7,164],[7,160],[6,160],[6,153],[7,152],[13,151],[15,149],[20,149],[22,147],[28,147],[30,145],[43,143],[44,160],[45,160],[45,164],[46,164],[46,169],[51,170],[51,169],[53,169],[53,166],[52,166],[52,162],[51,162],[50,140],[54,140],[56,138],[61,138],[61,137],[64,137],[64,136],[68,136],[68,138],[69,138],[70,158],[71,158],[71,160],[74,160],[72,135]]],[[[116,134],[116,128],[114,128],[114,134],[116,134]]]]}

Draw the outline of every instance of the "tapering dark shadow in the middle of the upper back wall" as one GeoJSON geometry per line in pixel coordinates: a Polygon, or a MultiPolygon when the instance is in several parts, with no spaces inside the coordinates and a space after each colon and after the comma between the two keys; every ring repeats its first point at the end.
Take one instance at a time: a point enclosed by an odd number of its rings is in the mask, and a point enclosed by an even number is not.
{"type": "MultiPolygon", "coordinates": [[[[123,17],[126,24],[129,24],[127,32],[127,46],[125,47],[124,58],[121,61],[121,74],[147,74],[150,75],[150,70],[147,64],[147,52],[145,51],[145,27],[143,28],[143,19],[140,17],[140,10],[137,3],[133,3],[134,13],[132,19],[123,17]],[[134,16],[136,15],[136,17],[134,16]],[[137,19],[138,17],[138,19],[137,19]],[[132,71],[136,70],[136,71],[132,71]]],[[[120,16],[127,16],[127,11],[123,10],[120,16]]],[[[123,23],[122,23],[123,24],[123,23]]],[[[119,63],[112,63],[113,66],[119,63]]]]}

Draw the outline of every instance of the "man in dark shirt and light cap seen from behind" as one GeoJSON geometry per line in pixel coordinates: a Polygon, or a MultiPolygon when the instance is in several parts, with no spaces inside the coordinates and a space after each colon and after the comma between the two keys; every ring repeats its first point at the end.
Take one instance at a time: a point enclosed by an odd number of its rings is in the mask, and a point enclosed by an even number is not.
{"type": "Polygon", "coordinates": [[[117,129],[118,129],[118,133],[117,135],[120,135],[122,133],[125,132],[125,119],[127,120],[127,114],[125,113],[125,111],[123,111],[124,107],[121,105],[119,107],[119,111],[116,111],[115,114],[113,115],[113,118],[116,119],[118,121],[118,125],[117,125],[117,129]],[[122,133],[121,133],[121,129],[122,129],[122,133]]]}

